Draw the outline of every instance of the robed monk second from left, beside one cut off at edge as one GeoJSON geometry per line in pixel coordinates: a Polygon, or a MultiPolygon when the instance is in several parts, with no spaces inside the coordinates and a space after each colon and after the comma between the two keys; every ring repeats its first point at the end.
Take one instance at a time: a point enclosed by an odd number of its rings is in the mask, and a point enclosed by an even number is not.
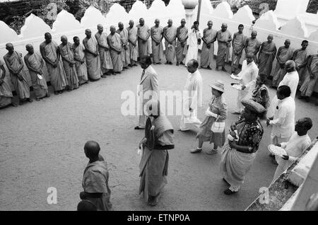
{"type": "Polygon", "coordinates": [[[18,94],[20,105],[22,105],[25,100],[32,103],[33,100],[30,99],[28,78],[25,71],[23,71],[22,54],[16,52],[11,43],[6,44],[6,50],[8,50],[8,53],[4,55],[4,62],[6,63],[8,71],[10,71],[11,81],[18,94]]]}

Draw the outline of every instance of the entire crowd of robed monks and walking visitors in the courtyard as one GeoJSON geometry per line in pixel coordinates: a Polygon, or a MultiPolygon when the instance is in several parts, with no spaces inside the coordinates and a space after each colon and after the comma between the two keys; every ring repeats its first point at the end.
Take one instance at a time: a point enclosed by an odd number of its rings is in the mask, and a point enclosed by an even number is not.
{"type": "MultiPolygon", "coordinates": [[[[143,18],[139,25],[129,21],[129,27],[123,23],[118,29],[112,25],[110,34],[104,32],[102,25],[98,25],[98,32],[92,35],[85,31],[83,44],[78,37],[73,37],[71,44],[66,36],[61,36],[61,44],[52,40],[50,33],[45,33],[45,41],[40,45],[40,54],[35,52],[33,45],[26,45],[28,54],[24,62],[30,73],[36,100],[49,97],[47,81],[44,76],[46,64],[48,77],[54,89],[54,94],[64,90],[73,91],[88,81],[98,81],[110,75],[120,74],[124,69],[141,65],[143,72],[139,86],[139,96],[151,91],[148,99],[142,99],[139,107],[139,125],[135,129],[146,129],[146,137],[139,144],[141,151],[140,188],[146,202],[158,204],[161,190],[167,183],[167,166],[169,154],[167,150],[174,149],[173,127],[167,117],[160,112],[158,74],[151,64],[183,64],[187,67],[184,90],[190,94],[183,104],[179,130],[186,132],[195,127],[198,147],[191,151],[198,154],[202,151],[204,142],[213,143],[213,148],[207,154],[213,155],[222,149],[220,171],[223,180],[229,188],[225,195],[235,194],[244,183],[245,175],[257,156],[259,143],[264,134],[261,120],[271,127],[271,144],[281,146],[286,155],[275,157],[278,163],[275,180],[295,161],[310,145],[307,131],[312,128],[312,120],[304,117],[295,123],[295,96],[298,89],[300,98],[309,100],[314,91],[318,77],[318,54],[308,55],[308,42],[302,42],[302,48],[295,52],[290,48],[290,40],[276,50],[273,35],[269,35],[266,42],[257,40],[257,32],[252,31],[251,37],[243,35],[244,26],[239,25],[238,32],[232,37],[228,26],[223,23],[221,30],[213,30],[212,21],[208,21],[208,28],[204,29],[203,37],[199,33],[199,22],[195,21],[188,31],[184,19],[179,27],[175,27],[170,19],[165,28],[160,21],[148,28],[143,18]],[[151,38],[151,39],[149,39],[151,38]],[[165,40],[165,51],[163,51],[165,40]],[[211,83],[211,100],[208,103],[206,117],[203,122],[198,119],[197,111],[202,106],[203,80],[199,68],[212,69],[214,64],[214,42],[218,41],[216,56],[216,70],[226,71],[225,63],[230,60],[232,46],[232,62],[230,77],[237,81],[240,88],[237,91],[237,108],[234,114],[239,115],[237,121],[230,126],[228,136],[225,135],[225,120],[228,107],[225,102],[225,84],[223,81],[211,83]],[[198,61],[199,45],[203,42],[201,62],[198,61]],[[242,69],[237,73],[245,51],[242,69]],[[273,60],[277,59],[276,67],[273,60]],[[270,100],[269,88],[266,81],[271,81],[271,87],[277,88],[276,96],[270,100]],[[273,108],[273,115],[268,116],[269,108],[273,108]],[[149,119],[151,118],[151,120],[149,119]],[[151,127],[147,122],[151,121],[151,127]]],[[[20,104],[24,101],[32,102],[28,77],[23,69],[22,54],[14,50],[11,43],[6,44],[8,53],[4,62],[0,60],[0,108],[12,104],[13,95],[10,85],[5,80],[6,70],[10,73],[11,82],[16,90],[20,104]]],[[[99,209],[112,210],[110,203],[109,174],[107,163],[100,156],[100,146],[97,142],[87,142],[85,154],[89,158],[88,166],[83,175],[83,189],[78,210],[99,209]]]]}

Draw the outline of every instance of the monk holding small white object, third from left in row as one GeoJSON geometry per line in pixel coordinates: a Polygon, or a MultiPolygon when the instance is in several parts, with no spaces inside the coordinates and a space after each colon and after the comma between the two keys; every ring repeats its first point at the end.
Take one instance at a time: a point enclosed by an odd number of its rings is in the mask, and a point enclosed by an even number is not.
{"type": "Polygon", "coordinates": [[[33,91],[35,92],[35,100],[49,97],[47,81],[43,73],[44,61],[39,53],[34,52],[32,45],[26,45],[25,49],[28,51],[28,54],[25,55],[24,62],[29,69],[33,91]]]}

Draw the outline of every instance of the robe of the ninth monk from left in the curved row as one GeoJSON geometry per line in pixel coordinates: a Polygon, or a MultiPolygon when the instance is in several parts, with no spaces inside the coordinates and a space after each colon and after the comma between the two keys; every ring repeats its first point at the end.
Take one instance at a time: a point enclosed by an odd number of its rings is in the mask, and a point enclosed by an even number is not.
{"type": "MultiPolygon", "coordinates": [[[[118,50],[122,49],[122,41],[120,40],[120,35],[118,33],[114,33],[114,35],[108,35],[107,40],[118,50]]],[[[118,54],[118,52],[111,49],[110,57],[112,57],[112,67],[114,67],[114,72],[122,71],[122,53],[118,54]]]]}

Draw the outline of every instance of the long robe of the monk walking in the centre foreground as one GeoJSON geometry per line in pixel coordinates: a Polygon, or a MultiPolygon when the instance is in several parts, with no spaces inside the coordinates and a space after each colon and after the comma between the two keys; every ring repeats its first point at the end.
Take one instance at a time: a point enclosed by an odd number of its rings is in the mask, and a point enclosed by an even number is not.
{"type": "Polygon", "coordinates": [[[155,148],[150,151],[143,146],[143,154],[139,163],[140,186],[139,195],[143,192],[144,200],[158,197],[167,184],[167,168],[169,154],[167,149],[174,149],[173,127],[167,117],[160,115],[153,120],[155,127],[155,148]]]}

